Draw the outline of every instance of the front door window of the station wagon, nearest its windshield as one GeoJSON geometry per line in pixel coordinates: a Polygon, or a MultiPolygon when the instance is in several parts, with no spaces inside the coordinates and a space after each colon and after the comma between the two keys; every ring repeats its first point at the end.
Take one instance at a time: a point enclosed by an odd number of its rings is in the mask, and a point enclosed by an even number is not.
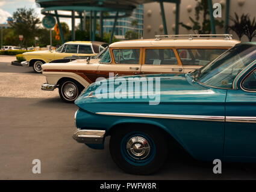
{"type": "Polygon", "coordinates": [[[140,49],[114,49],[116,64],[139,64],[140,49]]]}

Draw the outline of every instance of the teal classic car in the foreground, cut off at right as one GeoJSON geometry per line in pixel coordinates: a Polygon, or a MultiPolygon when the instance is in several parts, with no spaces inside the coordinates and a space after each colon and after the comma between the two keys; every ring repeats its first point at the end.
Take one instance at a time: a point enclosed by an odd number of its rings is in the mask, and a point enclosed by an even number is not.
{"type": "MultiPolygon", "coordinates": [[[[160,81],[155,92],[160,102],[155,104],[149,104],[150,97],[113,97],[131,77],[101,80],[84,89],[75,101],[73,139],[102,149],[110,136],[114,162],[138,175],[160,169],[169,146],[176,144],[197,160],[256,162],[256,43],[237,44],[187,74],[133,76],[141,85],[152,78],[160,81]],[[106,89],[99,91],[100,86],[106,89]]],[[[145,92],[135,88],[124,93],[145,92]]]]}

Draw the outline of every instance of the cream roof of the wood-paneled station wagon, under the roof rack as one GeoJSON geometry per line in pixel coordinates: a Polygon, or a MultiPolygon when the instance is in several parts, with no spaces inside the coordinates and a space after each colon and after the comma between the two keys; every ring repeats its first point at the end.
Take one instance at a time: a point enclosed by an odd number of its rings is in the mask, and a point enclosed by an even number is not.
{"type": "Polygon", "coordinates": [[[225,40],[224,38],[195,38],[193,40],[184,38],[173,39],[145,39],[145,40],[128,40],[119,41],[110,44],[110,47],[233,47],[238,40],[225,40]]]}

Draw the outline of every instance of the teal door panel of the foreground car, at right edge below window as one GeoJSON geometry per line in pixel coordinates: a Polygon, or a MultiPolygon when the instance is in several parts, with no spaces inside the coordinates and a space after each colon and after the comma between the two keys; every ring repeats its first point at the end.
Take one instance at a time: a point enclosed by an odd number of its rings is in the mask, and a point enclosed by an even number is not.
{"type": "MultiPolygon", "coordinates": [[[[226,116],[255,117],[256,92],[228,90],[226,96],[226,116]]],[[[243,161],[256,158],[255,122],[226,122],[224,156],[229,160],[243,161]],[[240,158],[239,158],[240,157],[240,158]]]]}

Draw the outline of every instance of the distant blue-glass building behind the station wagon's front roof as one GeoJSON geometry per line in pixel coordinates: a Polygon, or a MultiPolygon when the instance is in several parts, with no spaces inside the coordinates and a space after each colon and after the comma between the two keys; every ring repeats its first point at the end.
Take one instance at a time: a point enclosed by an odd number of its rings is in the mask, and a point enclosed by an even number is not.
{"type": "MultiPolygon", "coordinates": [[[[133,14],[130,17],[117,19],[116,28],[114,35],[118,39],[125,39],[125,33],[127,31],[134,31],[139,34],[139,37],[143,37],[143,5],[139,5],[134,9],[133,14]],[[133,21],[137,20],[137,25],[133,25],[133,21]]],[[[116,13],[110,12],[110,15],[115,15],[116,13]]],[[[114,20],[105,19],[103,23],[103,31],[111,32],[113,29],[114,20]]]]}

